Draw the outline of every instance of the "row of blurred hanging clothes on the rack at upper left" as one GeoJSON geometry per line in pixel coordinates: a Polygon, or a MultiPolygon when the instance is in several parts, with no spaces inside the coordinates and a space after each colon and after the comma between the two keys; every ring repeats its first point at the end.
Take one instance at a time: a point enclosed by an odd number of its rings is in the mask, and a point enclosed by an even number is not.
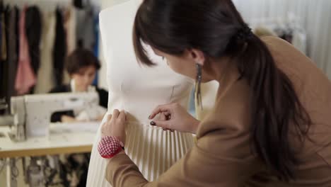
{"type": "Polygon", "coordinates": [[[74,0],[0,0],[3,5],[1,26],[4,26],[1,28],[8,28],[1,32],[6,45],[0,43],[0,60],[8,62],[0,64],[0,84],[1,88],[8,89],[0,90],[0,99],[6,96],[9,102],[10,96],[46,94],[54,86],[66,84],[69,76],[64,71],[65,57],[79,42],[98,56],[98,11],[87,4],[79,7],[79,3],[74,4],[74,0]],[[7,42],[8,38],[15,42],[7,42]]]}

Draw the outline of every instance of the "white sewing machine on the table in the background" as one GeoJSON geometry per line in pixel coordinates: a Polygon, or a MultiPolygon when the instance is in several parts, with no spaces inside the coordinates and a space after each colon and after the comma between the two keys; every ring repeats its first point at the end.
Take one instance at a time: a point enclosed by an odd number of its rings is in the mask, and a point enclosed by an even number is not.
{"type": "Polygon", "coordinates": [[[26,95],[11,98],[13,130],[11,140],[21,142],[29,137],[47,137],[50,133],[50,118],[60,111],[88,111],[96,118],[99,98],[96,92],[80,94],[26,95]]]}

